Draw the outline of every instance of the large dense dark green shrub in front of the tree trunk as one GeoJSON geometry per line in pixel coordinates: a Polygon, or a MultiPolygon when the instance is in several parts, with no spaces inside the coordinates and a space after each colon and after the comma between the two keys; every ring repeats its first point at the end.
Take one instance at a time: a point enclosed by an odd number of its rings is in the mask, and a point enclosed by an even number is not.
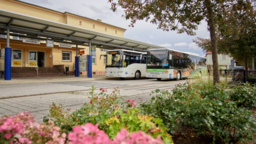
{"type": "Polygon", "coordinates": [[[238,108],[229,99],[225,85],[213,89],[198,89],[200,83],[177,85],[173,94],[156,90],[156,97],[141,103],[147,115],[163,119],[169,132],[180,131],[179,126],[193,127],[197,134],[212,134],[213,141],[242,142],[253,139],[256,121],[250,111],[238,108]]]}

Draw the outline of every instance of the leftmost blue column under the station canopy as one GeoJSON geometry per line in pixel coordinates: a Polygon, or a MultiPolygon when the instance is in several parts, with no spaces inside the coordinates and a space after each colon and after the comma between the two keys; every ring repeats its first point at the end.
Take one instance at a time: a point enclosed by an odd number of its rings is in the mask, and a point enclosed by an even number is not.
{"type": "Polygon", "coordinates": [[[12,77],[12,48],[5,47],[4,53],[4,80],[11,80],[12,77]]]}

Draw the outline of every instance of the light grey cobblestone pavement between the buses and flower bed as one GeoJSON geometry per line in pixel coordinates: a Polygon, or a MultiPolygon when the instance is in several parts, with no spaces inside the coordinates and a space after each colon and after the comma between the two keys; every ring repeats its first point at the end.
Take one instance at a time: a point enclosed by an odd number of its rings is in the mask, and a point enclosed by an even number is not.
{"type": "Polygon", "coordinates": [[[52,102],[63,108],[75,111],[85,102],[89,102],[91,85],[95,93],[100,93],[101,87],[106,88],[106,94],[118,87],[120,96],[124,99],[134,99],[135,102],[151,99],[151,91],[172,90],[175,85],[186,81],[156,81],[155,79],[141,79],[138,81],[120,81],[113,79],[93,79],[93,81],[45,81],[41,83],[12,83],[0,84],[0,116],[15,115],[22,111],[29,111],[35,115],[36,122],[42,123],[43,117],[49,114],[52,102]],[[135,82],[135,83],[134,83],[135,82]]]}

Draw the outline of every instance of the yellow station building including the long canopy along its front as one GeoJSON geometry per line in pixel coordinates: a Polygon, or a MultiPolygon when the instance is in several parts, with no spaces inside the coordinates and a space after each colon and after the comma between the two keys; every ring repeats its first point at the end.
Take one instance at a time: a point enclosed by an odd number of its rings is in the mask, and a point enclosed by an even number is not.
{"type": "Polygon", "coordinates": [[[92,55],[92,73],[103,75],[106,60],[100,59],[100,55],[106,54],[106,50],[146,51],[163,48],[126,39],[124,38],[126,29],[109,25],[100,19],[94,20],[69,12],[58,12],[16,0],[0,0],[2,58],[3,48],[7,45],[7,29],[10,29],[12,69],[58,67],[64,71],[65,67],[69,67],[69,74],[72,75],[77,51],[81,51],[82,54],[92,55]],[[94,47],[95,51],[90,52],[89,47],[94,47]]]}

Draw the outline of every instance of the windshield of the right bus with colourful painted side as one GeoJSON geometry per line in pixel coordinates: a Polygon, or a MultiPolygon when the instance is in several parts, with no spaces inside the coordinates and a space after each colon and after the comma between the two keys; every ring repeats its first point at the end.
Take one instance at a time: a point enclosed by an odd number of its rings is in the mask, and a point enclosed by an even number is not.
{"type": "Polygon", "coordinates": [[[147,68],[169,68],[168,50],[147,51],[147,68]]]}

